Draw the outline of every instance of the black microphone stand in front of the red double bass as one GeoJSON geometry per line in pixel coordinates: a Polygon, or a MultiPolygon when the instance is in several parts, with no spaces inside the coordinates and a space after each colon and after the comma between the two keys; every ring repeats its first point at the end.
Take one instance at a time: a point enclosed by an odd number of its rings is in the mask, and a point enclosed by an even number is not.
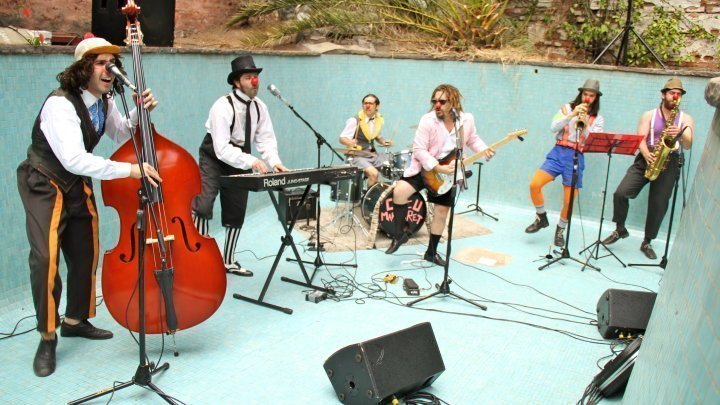
{"type": "MultiPolygon", "coordinates": [[[[122,85],[120,85],[117,81],[115,81],[115,91],[122,95],[120,98],[122,100],[123,108],[125,110],[125,116],[130,117],[130,114],[128,113],[128,107],[127,103],[125,101],[125,93],[122,88],[122,85]]],[[[142,101],[141,101],[142,102],[142,101]]],[[[138,107],[140,108],[140,107],[138,107]]],[[[145,169],[142,165],[142,160],[140,160],[140,152],[138,149],[138,144],[135,140],[135,135],[132,133],[132,128],[129,128],[131,131],[130,139],[132,139],[133,146],[135,147],[135,154],[138,160],[138,165],[140,166],[140,175],[142,176],[140,178],[140,190],[138,191],[138,199],[139,199],[139,205],[137,210],[137,222],[135,224],[135,229],[137,230],[138,234],[138,240],[139,241],[145,241],[146,240],[146,217],[145,217],[145,207],[149,203],[148,195],[150,195],[151,191],[151,185],[148,181],[147,177],[145,177],[145,169]]],[[[151,216],[153,220],[155,218],[151,216]]],[[[135,370],[135,376],[130,381],[126,381],[120,384],[113,384],[112,387],[106,388],[102,391],[98,391],[94,394],[90,394],[88,396],[85,396],[80,399],[76,399],[73,401],[68,402],[68,404],[74,405],[74,404],[81,404],[87,401],[90,401],[92,399],[101,397],[106,394],[114,393],[115,391],[121,390],[123,388],[130,387],[132,385],[138,385],[140,387],[147,388],[148,390],[158,394],[165,402],[169,404],[177,404],[177,402],[171,397],[170,395],[164,393],[160,388],[158,388],[155,384],[152,382],[152,376],[156,373],[159,373],[160,371],[165,371],[170,367],[170,364],[168,362],[163,363],[161,366],[156,366],[153,362],[150,362],[147,357],[147,351],[145,348],[145,243],[138,243],[137,245],[138,249],[138,321],[139,321],[139,330],[138,330],[138,346],[139,346],[139,357],[140,357],[140,363],[138,364],[137,369],[135,370]]]]}

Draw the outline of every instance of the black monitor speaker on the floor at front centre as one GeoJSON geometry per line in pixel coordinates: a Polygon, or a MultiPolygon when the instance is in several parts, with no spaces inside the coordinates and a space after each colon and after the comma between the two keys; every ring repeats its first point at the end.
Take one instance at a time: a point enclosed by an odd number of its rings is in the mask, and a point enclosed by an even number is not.
{"type": "Polygon", "coordinates": [[[400,399],[445,371],[429,322],[344,347],[323,367],[340,402],[352,405],[400,399]]]}

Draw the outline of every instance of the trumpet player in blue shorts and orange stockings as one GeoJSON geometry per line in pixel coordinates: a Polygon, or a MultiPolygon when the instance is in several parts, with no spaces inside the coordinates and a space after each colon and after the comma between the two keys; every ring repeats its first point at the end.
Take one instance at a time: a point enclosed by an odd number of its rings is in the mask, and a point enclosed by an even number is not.
{"type": "Polygon", "coordinates": [[[560,106],[560,110],[555,114],[550,125],[550,131],[555,136],[555,146],[530,180],[530,199],[535,205],[536,214],[535,221],[525,229],[525,232],[535,233],[550,225],[545,212],[545,198],[542,189],[547,183],[562,175],[563,207],[554,237],[554,243],[558,247],[565,246],[564,234],[568,224],[575,149],[579,149],[577,183],[575,184],[575,195],[577,195],[577,190],[582,187],[582,175],[585,168],[585,159],[580,148],[590,132],[602,132],[605,125],[605,119],[599,114],[600,96],[602,96],[600,82],[588,79],[582,87],[578,88],[578,94],[573,101],[560,106]]]}

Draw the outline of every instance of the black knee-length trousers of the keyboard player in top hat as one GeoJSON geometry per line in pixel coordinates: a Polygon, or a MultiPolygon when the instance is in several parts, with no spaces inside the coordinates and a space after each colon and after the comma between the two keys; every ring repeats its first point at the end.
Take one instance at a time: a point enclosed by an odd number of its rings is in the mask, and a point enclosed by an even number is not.
{"type": "Polygon", "coordinates": [[[192,209],[201,218],[212,219],[215,198],[220,194],[220,215],[222,225],[242,228],[247,211],[248,191],[220,186],[220,176],[252,173],[252,170],[234,168],[221,162],[214,152],[200,148],[200,178],[202,190],[193,199],[192,209]]]}

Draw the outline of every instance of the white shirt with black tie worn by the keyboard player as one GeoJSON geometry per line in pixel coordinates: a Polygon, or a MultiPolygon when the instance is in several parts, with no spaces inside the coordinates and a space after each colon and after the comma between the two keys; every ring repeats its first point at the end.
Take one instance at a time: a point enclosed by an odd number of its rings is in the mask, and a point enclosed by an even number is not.
{"type": "MultiPolygon", "coordinates": [[[[235,89],[233,91],[242,100],[250,100],[240,90],[235,89]]],[[[247,113],[247,107],[245,103],[238,101],[234,95],[231,94],[230,98],[235,107],[235,126],[232,133],[230,133],[230,124],[232,124],[233,120],[233,106],[228,103],[227,96],[220,97],[212,105],[205,128],[212,137],[213,149],[218,159],[232,167],[247,170],[252,167],[258,158],[244,153],[240,147],[235,146],[245,144],[245,114],[247,113]],[[230,141],[235,145],[231,144],[230,141]]],[[[250,125],[251,128],[254,127],[250,133],[252,146],[260,152],[263,160],[273,168],[278,164],[282,164],[282,162],[278,155],[277,140],[270,114],[262,100],[255,97],[252,101],[257,103],[260,109],[260,119],[258,120],[258,109],[254,105],[250,105],[250,125]]]]}

